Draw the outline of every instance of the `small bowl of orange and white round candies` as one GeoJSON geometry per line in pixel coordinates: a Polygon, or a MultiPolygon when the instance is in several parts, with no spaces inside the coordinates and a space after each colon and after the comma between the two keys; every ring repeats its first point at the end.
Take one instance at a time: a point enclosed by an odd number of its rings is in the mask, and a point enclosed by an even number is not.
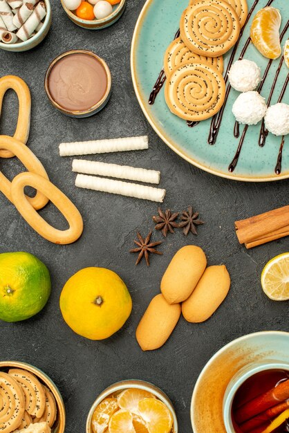
{"type": "Polygon", "coordinates": [[[77,26],[100,30],[114,24],[124,12],[127,0],[61,0],[68,17],[77,26]]]}

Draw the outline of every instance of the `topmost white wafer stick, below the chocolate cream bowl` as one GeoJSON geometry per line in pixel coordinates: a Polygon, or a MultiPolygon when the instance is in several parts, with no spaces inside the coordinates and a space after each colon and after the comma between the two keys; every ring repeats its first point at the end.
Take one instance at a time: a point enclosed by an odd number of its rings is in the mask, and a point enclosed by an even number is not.
{"type": "Polygon", "coordinates": [[[128,150],[143,150],[149,148],[147,136],[111,138],[110,140],[92,140],[80,142],[63,142],[59,145],[60,156],[108,154],[128,150]]]}

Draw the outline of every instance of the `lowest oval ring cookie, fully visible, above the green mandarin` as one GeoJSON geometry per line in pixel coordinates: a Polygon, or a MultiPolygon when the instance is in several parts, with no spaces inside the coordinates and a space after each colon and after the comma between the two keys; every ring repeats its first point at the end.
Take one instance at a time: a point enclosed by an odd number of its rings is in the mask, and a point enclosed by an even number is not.
{"type": "Polygon", "coordinates": [[[11,194],[13,203],[21,216],[44,239],[53,243],[66,245],[67,243],[75,242],[82,234],[82,216],[77,208],[75,208],[75,205],[53,183],[39,176],[39,174],[30,172],[18,174],[12,181],[11,194]],[[26,186],[33,187],[42,192],[53,202],[68,221],[68,230],[58,230],[52,227],[32,208],[32,205],[24,194],[26,186]]]}

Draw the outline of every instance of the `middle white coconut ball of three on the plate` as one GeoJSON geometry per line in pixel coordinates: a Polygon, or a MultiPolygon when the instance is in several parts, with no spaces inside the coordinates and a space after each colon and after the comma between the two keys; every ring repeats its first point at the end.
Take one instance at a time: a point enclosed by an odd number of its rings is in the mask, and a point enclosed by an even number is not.
{"type": "Polygon", "coordinates": [[[256,125],[263,119],[266,111],[265,98],[256,91],[241,93],[232,107],[236,120],[245,125],[256,125]]]}

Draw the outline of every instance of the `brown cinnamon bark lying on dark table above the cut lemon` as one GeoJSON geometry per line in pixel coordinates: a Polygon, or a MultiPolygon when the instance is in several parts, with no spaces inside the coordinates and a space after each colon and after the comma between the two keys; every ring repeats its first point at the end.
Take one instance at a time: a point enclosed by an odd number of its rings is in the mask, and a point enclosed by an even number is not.
{"type": "Polygon", "coordinates": [[[246,248],[289,235],[289,205],[235,222],[236,235],[246,248]]]}

